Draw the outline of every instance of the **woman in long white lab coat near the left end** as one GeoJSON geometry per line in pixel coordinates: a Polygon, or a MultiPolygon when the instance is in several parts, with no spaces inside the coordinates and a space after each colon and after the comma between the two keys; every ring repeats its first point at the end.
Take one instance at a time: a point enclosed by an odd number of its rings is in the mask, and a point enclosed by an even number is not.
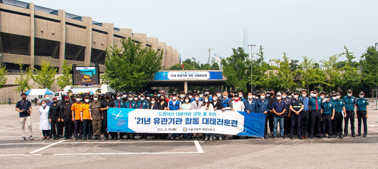
{"type": "Polygon", "coordinates": [[[49,106],[46,105],[46,101],[41,101],[41,107],[39,108],[39,129],[42,130],[43,138],[42,140],[50,140],[50,130],[51,130],[51,123],[48,120],[48,111],[50,109],[49,106]]]}

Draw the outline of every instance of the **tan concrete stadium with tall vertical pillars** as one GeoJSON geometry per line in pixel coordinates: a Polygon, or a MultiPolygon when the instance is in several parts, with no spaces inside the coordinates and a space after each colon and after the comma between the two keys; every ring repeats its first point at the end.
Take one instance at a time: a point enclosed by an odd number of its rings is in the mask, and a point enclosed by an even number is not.
{"type": "Polygon", "coordinates": [[[39,69],[47,60],[60,73],[63,60],[77,66],[98,64],[105,70],[105,49],[121,45],[122,38],[131,37],[142,47],[163,52],[163,70],[168,63],[180,63],[177,49],[132,29],[115,28],[113,23],[99,23],[92,17],[78,16],[17,0],[0,0],[0,62],[8,72],[17,73],[14,63],[23,58],[26,66],[39,69]]]}

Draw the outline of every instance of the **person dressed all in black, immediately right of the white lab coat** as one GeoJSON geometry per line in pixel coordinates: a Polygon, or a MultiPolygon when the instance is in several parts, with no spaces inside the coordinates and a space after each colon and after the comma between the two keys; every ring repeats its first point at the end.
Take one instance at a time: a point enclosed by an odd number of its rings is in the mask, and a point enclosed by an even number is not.
{"type": "Polygon", "coordinates": [[[59,122],[60,122],[60,105],[57,103],[56,97],[53,98],[53,105],[48,111],[48,119],[51,123],[51,133],[53,140],[59,139],[59,122]],[[58,135],[57,135],[58,134],[58,135]]]}

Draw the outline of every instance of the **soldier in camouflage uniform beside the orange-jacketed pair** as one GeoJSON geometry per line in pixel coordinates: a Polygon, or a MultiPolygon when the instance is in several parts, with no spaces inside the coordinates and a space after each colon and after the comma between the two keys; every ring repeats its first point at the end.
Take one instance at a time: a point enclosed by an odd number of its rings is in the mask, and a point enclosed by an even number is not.
{"type": "Polygon", "coordinates": [[[95,137],[93,140],[101,140],[101,125],[102,125],[102,111],[100,111],[100,102],[99,102],[99,95],[93,95],[93,102],[89,105],[89,115],[92,120],[93,126],[93,135],[95,137]]]}

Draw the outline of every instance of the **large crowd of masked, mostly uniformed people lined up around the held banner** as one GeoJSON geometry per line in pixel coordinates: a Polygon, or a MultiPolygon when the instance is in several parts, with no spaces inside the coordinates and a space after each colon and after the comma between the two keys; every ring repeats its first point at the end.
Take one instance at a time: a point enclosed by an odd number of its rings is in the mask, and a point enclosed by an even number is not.
{"type": "MultiPolygon", "coordinates": [[[[51,122],[50,138],[75,140],[104,140],[135,139],[136,133],[107,132],[107,110],[108,108],[132,108],[132,109],[155,109],[155,110],[190,110],[190,109],[219,109],[244,111],[249,113],[266,114],[265,136],[268,134],[268,122],[270,137],[276,138],[277,127],[280,127],[280,137],[296,135],[297,138],[339,138],[348,135],[348,124],[352,137],[361,135],[361,125],[364,124],[363,137],[367,135],[366,119],[368,117],[368,101],[364,98],[364,92],[359,92],[359,98],[353,97],[351,90],[342,99],[340,92],[333,91],[331,94],[310,91],[291,92],[290,90],[274,92],[248,92],[246,99],[242,91],[219,91],[210,95],[205,89],[203,96],[197,91],[180,93],[174,92],[166,97],[165,91],[149,94],[147,91],[140,94],[113,93],[101,94],[73,94],[71,90],[68,95],[62,95],[62,99],[53,98],[50,101],[45,96],[46,104],[50,107],[48,118],[51,122]],[[358,133],[355,135],[354,119],[358,119],[358,133]],[[344,119],[344,134],[342,121],[344,119]],[[64,134],[63,134],[64,131],[64,134]],[[73,136],[73,137],[72,137],[73,136]],[[126,138],[124,137],[126,136],[126,138]]],[[[204,140],[225,140],[240,139],[238,135],[224,135],[215,133],[191,133],[191,134],[148,134],[139,133],[139,138],[146,139],[152,135],[152,139],[204,139],[204,140]],[[198,137],[197,137],[198,135],[198,137]]],[[[45,138],[45,137],[44,137],[45,138]]],[[[253,138],[253,137],[246,137],[253,138]]]]}

